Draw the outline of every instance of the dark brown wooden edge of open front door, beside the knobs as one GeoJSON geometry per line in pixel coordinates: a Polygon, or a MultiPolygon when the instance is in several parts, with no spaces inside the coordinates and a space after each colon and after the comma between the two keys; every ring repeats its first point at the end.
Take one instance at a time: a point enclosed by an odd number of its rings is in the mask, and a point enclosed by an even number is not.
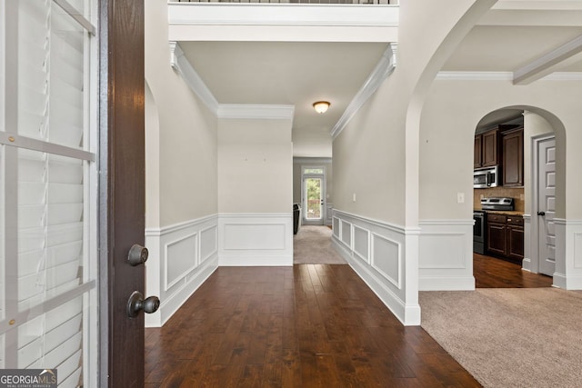
{"type": "Polygon", "coordinates": [[[101,0],[100,38],[100,385],[144,385],[144,313],[127,302],[145,291],[145,266],[131,265],[144,244],[144,1],[101,0]]]}

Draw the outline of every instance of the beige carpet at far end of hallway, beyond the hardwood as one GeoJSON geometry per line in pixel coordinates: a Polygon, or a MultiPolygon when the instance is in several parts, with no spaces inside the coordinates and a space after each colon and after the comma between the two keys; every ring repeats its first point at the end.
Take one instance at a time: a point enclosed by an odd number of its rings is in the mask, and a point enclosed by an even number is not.
{"type": "Polygon", "coordinates": [[[293,236],[294,264],[346,264],[331,244],[327,226],[302,225],[293,236]]]}

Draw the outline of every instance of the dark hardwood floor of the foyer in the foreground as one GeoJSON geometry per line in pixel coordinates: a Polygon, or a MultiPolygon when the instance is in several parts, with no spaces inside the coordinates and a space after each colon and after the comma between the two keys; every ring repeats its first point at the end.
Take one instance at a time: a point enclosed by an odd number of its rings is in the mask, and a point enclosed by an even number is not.
{"type": "Polygon", "coordinates": [[[480,386],[348,265],[220,267],[146,329],[147,387],[480,386]]]}

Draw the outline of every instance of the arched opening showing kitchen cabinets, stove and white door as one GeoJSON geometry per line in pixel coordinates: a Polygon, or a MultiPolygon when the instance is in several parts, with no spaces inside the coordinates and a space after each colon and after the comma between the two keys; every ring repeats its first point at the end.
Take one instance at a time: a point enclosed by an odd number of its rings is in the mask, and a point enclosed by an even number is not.
{"type": "MultiPolygon", "coordinates": [[[[560,145],[564,137],[563,125],[557,117],[533,106],[501,108],[486,114],[477,124],[474,154],[477,287],[487,284],[479,279],[483,276],[482,261],[487,256],[550,277],[560,266],[559,261],[564,258],[556,255],[559,239],[555,218],[565,209],[562,184],[565,159],[560,159],[564,156],[564,147],[560,145]],[[487,184],[481,184],[486,174],[487,184]]],[[[543,278],[528,276],[518,274],[517,281],[525,281],[519,286],[547,285],[543,278]]]]}

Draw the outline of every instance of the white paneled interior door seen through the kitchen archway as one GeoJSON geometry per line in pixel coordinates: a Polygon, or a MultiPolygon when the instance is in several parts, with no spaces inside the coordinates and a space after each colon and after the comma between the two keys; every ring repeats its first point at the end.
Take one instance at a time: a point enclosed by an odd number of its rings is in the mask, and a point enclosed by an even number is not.
{"type": "Polygon", "coordinates": [[[537,142],[537,241],[539,272],[554,275],[556,268],[556,139],[537,142]]]}

